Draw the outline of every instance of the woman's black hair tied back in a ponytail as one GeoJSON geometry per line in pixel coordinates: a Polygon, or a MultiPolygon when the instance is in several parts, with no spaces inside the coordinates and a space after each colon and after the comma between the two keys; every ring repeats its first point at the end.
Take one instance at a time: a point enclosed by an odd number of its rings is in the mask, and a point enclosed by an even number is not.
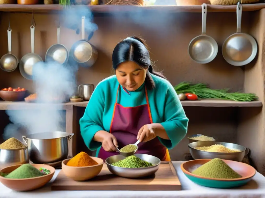
{"type": "Polygon", "coordinates": [[[149,51],[145,41],[136,36],[130,36],[116,45],[112,53],[112,66],[116,70],[119,64],[125,61],[134,61],[147,70],[145,85],[147,89],[156,87],[151,74],[166,79],[161,72],[155,72],[150,60],[149,51]],[[150,74],[151,73],[151,74],[150,74]]]}

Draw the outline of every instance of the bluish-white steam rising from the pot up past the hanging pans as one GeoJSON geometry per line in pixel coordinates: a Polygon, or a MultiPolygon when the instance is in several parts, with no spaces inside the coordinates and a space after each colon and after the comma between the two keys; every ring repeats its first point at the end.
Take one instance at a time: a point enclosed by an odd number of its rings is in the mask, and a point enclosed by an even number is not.
{"type": "MultiPolygon", "coordinates": [[[[98,26],[92,22],[93,16],[87,6],[67,8],[62,15],[63,26],[78,29],[81,17],[85,16],[86,32],[95,31],[98,26]]],[[[33,86],[37,92],[37,103],[34,110],[6,110],[12,123],[4,129],[3,139],[14,137],[23,142],[22,135],[34,133],[65,131],[65,112],[63,102],[76,93],[76,72],[78,65],[61,65],[56,62],[38,62],[33,67],[33,86]],[[54,103],[56,100],[56,103],[54,103]],[[50,104],[47,104],[50,103],[50,104]]]]}

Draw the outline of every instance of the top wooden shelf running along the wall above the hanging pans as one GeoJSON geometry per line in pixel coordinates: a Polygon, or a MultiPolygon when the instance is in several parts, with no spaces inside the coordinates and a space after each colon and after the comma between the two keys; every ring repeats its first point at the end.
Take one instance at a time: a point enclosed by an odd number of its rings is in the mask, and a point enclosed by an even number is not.
{"type": "MultiPolygon", "coordinates": [[[[164,11],[164,12],[201,12],[201,6],[119,6],[119,5],[76,5],[72,8],[89,7],[96,13],[116,13],[116,12],[140,12],[140,11],[164,11]]],[[[255,11],[265,8],[265,3],[243,4],[243,11],[255,11]]],[[[64,7],[60,5],[20,5],[20,4],[0,4],[0,11],[4,12],[55,12],[61,11],[64,7]]],[[[208,12],[236,12],[236,5],[219,6],[208,5],[208,12]]]]}

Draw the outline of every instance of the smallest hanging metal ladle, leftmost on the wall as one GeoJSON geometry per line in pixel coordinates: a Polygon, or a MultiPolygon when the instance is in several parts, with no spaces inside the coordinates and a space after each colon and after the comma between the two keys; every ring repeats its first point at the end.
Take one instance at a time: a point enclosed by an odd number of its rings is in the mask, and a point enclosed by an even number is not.
{"type": "Polygon", "coordinates": [[[17,68],[18,59],[17,57],[11,53],[11,33],[12,30],[10,28],[10,20],[7,29],[7,40],[8,40],[8,53],[3,55],[0,59],[1,69],[6,72],[12,72],[17,68]]]}

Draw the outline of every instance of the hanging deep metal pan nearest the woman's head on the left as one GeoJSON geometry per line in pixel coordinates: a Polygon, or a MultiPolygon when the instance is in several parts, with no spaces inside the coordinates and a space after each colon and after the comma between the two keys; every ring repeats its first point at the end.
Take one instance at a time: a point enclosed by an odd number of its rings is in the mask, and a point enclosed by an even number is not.
{"type": "Polygon", "coordinates": [[[81,34],[82,40],[73,44],[70,54],[72,58],[81,66],[91,67],[98,58],[98,51],[93,45],[85,40],[85,16],[82,16],[81,34]]]}

